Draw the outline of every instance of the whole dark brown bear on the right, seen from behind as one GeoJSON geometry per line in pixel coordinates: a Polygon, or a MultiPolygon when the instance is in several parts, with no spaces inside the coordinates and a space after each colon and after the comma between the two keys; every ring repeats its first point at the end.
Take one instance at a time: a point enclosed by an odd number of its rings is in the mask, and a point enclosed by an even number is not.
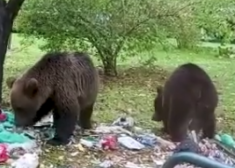
{"type": "Polygon", "coordinates": [[[218,94],[202,68],[193,63],[179,66],[157,93],[152,120],[163,121],[163,131],[172,141],[182,141],[187,130],[202,130],[204,138],[214,137],[218,94]]]}

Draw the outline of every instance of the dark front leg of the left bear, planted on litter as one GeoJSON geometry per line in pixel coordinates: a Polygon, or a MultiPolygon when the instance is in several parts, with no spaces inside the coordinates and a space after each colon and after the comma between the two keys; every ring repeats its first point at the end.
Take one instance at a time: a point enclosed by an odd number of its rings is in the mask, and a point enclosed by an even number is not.
{"type": "Polygon", "coordinates": [[[55,136],[48,140],[47,144],[57,146],[69,143],[73,131],[75,130],[78,111],[79,106],[76,104],[66,107],[56,107],[53,111],[55,119],[55,136]]]}

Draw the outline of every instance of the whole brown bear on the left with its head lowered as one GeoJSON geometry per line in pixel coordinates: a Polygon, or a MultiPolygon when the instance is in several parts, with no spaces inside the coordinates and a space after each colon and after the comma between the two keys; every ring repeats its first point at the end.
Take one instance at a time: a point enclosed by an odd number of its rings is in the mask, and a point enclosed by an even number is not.
{"type": "Polygon", "coordinates": [[[8,78],[7,85],[16,126],[32,126],[52,111],[55,136],[48,144],[66,145],[76,123],[92,127],[98,73],[85,53],[47,53],[22,76],[8,78]]]}

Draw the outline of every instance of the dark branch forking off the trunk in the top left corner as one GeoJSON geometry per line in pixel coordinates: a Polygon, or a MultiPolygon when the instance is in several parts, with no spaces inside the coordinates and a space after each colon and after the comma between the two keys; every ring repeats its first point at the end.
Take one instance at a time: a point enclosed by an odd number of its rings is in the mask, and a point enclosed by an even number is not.
{"type": "Polygon", "coordinates": [[[6,5],[6,10],[11,15],[12,19],[15,19],[24,1],[25,0],[9,0],[8,1],[6,5]]]}

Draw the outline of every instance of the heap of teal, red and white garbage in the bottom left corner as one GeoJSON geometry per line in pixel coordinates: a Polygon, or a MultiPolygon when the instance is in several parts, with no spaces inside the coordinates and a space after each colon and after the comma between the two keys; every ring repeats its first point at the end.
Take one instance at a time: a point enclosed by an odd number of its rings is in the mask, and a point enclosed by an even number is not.
{"type": "Polygon", "coordinates": [[[40,150],[35,140],[14,126],[14,115],[0,110],[0,164],[12,168],[36,168],[40,150]],[[24,165],[24,166],[22,166],[24,165]]]}

